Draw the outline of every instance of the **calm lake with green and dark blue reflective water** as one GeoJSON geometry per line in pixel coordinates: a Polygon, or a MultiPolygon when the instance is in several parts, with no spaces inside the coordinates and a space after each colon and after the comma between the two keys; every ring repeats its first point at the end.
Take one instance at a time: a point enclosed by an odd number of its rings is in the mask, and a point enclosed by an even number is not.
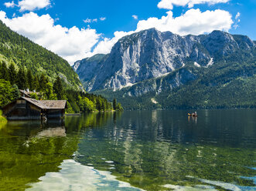
{"type": "Polygon", "coordinates": [[[256,190],[256,110],[0,124],[0,190],[256,190]]]}

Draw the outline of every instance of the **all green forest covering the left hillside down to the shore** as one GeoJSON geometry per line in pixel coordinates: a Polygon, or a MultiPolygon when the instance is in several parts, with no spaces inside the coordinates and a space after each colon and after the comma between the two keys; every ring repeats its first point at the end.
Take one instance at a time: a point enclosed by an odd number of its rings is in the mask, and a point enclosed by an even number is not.
{"type": "MultiPolygon", "coordinates": [[[[40,92],[40,99],[67,99],[70,113],[112,110],[100,95],[79,92],[80,80],[67,61],[12,32],[1,21],[0,80],[0,107],[19,97],[19,89],[30,89],[40,92]]],[[[36,93],[31,96],[39,99],[36,93]]]]}

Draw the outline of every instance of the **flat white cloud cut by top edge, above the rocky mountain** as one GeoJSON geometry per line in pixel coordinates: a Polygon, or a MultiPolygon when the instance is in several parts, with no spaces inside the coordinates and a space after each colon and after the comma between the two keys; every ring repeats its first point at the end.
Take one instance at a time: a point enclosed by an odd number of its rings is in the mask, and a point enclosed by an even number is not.
{"type": "Polygon", "coordinates": [[[176,6],[186,6],[188,5],[189,8],[193,8],[194,5],[197,4],[208,4],[208,5],[214,5],[217,3],[226,3],[230,0],[161,0],[159,4],[157,5],[159,8],[166,8],[166,9],[172,9],[173,5],[176,6]]]}

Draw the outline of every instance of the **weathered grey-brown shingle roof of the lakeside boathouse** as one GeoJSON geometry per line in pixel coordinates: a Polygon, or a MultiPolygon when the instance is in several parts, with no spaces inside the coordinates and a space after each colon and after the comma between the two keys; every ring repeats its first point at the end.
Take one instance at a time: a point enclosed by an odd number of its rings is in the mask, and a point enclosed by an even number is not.
{"type": "Polygon", "coordinates": [[[41,109],[65,109],[67,108],[67,100],[36,100],[31,98],[22,97],[33,105],[41,109]]]}

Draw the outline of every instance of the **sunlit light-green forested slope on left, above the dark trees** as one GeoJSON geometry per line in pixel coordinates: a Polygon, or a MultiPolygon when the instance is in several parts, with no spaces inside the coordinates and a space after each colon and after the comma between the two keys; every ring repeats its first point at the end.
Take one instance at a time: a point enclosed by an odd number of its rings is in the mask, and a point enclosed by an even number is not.
{"type": "Polygon", "coordinates": [[[0,21],[0,62],[13,63],[15,68],[31,69],[33,74],[44,74],[53,82],[59,75],[70,89],[83,89],[76,72],[60,56],[44,49],[22,35],[13,32],[0,21]]]}

